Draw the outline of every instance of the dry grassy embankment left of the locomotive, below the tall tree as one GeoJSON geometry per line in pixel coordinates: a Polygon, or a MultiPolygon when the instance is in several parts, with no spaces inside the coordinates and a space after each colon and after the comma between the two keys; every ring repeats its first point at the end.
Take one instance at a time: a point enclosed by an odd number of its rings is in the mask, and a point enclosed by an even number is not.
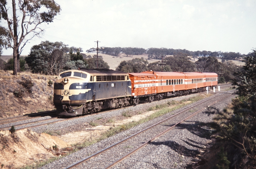
{"type": "Polygon", "coordinates": [[[48,81],[55,81],[55,76],[21,72],[17,76],[12,71],[0,70],[0,118],[14,115],[24,115],[39,111],[53,110],[53,85],[48,81]],[[31,79],[33,86],[24,90],[22,98],[16,97],[13,92],[24,89],[19,84],[22,79],[31,79]]]}

